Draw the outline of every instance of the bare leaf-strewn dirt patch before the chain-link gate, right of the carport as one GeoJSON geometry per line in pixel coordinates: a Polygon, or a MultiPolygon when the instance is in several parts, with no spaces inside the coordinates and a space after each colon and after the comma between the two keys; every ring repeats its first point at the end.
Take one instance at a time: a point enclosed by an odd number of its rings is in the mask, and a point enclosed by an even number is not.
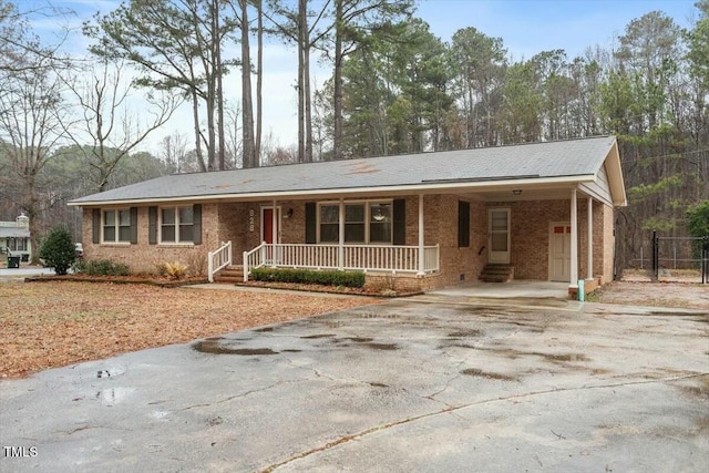
{"type": "Polygon", "coordinates": [[[613,281],[592,292],[588,301],[709,311],[709,285],[613,281]]]}

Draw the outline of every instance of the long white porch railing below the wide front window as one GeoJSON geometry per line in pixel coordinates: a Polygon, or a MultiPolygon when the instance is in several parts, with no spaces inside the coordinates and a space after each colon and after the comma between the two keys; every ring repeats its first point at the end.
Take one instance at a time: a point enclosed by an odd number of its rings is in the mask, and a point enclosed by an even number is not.
{"type": "Polygon", "coordinates": [[[306,245],[261,243],[244,251],[244,280],[250,269],[278,268],[374,270],[430,274],[439,270],[439,246],[423,247],[423,268],[419,268],[418,246],[393,245],[306,245]]]}

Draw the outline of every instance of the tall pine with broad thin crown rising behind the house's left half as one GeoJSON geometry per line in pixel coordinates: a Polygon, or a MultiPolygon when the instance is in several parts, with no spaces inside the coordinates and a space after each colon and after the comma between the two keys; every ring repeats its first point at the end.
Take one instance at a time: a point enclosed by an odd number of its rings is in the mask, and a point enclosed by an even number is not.
{"type": "Polygon", "coordinates": [[[181,91],[192,102],[195,151],[202,171],[219,166],[223,101],[218,78],[235,63],[222,55],[226,35],[236,28],[233,19],[220,17],[223,6],[219,0],[130,0],[112,13],[97,17],[97,24],[84,24],[84,33],[97,40],[91,48],[94,54],[125,59],[143,74],[137,85],[181,91]]]}

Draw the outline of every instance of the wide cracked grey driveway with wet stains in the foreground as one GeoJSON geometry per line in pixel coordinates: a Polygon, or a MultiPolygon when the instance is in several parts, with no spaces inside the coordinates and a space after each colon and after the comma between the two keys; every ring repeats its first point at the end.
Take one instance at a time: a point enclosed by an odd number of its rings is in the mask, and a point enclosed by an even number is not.
{"type": "Polygon", "coordinates": [[[709,471],[708,313],[458,302],[1,381],[0,470],[709,471]]]}

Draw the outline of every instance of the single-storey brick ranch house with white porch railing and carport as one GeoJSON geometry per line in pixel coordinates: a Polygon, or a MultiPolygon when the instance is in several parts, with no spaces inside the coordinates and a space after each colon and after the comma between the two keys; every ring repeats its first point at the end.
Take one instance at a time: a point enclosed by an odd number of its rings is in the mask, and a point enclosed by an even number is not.
{"type": "Polygon", "coordinates": [[[135,271],[230,241],[247,273],[366,270],[368,282],[395,274],[399,287],[427,289],[506,271],[501,280],[574,291],[579,278],[613,278],[614,207],[626,195],[616,140],[604,136],[179,174],[70,205],[84,209],[85,257],[135,271]]]}

